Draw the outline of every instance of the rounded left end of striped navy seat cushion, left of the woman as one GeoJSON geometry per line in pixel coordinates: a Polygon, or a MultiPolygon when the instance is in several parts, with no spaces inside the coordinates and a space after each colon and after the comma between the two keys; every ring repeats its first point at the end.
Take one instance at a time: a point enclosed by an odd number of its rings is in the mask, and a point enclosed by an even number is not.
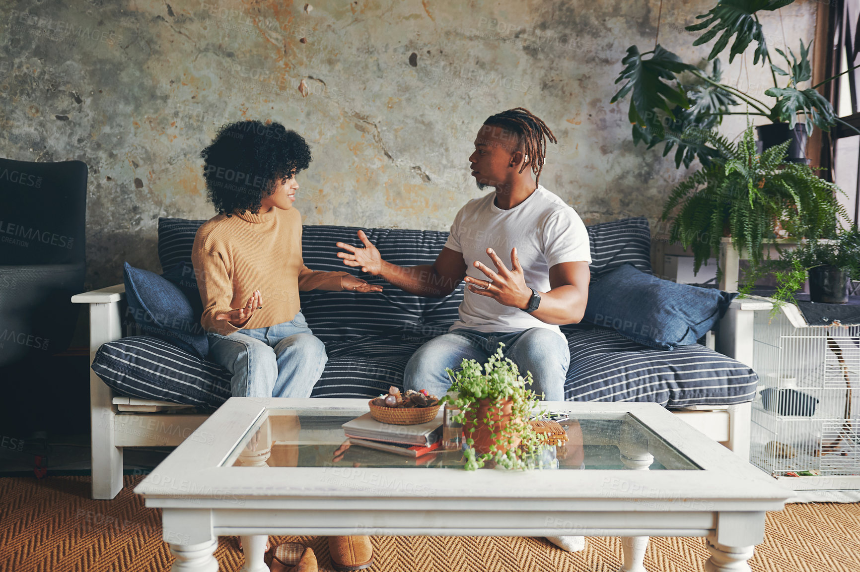
{"type": "Polygon", "coordinates": [[[101,344],[93,371],[127,397],[217,408],[230,398],[230,372],[150,336],[101,344]]]}

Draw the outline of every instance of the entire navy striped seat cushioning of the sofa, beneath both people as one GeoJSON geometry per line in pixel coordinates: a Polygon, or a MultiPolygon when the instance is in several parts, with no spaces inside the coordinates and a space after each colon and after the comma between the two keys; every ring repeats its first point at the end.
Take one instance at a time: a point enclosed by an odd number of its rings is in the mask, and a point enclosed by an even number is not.
{"type": "MultiPolygon", "coordinates": [[[[428,337],[362,336],[327,344],[329,362],[312,397],[373,398],[402,387],[409,357],[428,337]]],[[[568,401],[642,401],[668,407],[733,405],[753,399],[757,376],[740,362],[691,344],[652,350],[609,329],[568,334],[568,401]]],[[[93,370],[122,395],[218,407],[230,373],[157,338],[103,344],[93,370]]]]}

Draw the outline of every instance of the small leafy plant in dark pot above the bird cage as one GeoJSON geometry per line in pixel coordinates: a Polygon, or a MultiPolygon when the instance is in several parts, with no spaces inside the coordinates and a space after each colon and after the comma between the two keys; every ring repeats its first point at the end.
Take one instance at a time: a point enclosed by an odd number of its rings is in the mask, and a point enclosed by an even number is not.
{"type": "Polygon", "coordinates": [[[809,299],[828,304],[845,304],[851,280],[860,280],[860,230],[857,225],[842,228],[831,239],[807,240],[794,250],[783,251],[779,259],[765,260],[746,276],[741,295],[748,295],[759,277],[772,272],[777,289],[773,313],[785,301],[796,302],[795,294],[809,278],[809,299]]]}

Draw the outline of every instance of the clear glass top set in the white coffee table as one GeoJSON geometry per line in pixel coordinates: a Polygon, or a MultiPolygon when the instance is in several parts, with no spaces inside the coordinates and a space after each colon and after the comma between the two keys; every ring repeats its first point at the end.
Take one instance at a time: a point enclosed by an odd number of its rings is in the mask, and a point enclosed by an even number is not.
{"type": "MultiPolygon", "coordinates": [[[[367,410],[267,408],[222,466],[352,466],[462,468],[460,451],[436,449],[417,458],[350,445],[341,425],[367,410]]],[[[700,470],[683,453],[626,413],[569,413],[558,423],[568,441],[550,468],[700,470]]]]}

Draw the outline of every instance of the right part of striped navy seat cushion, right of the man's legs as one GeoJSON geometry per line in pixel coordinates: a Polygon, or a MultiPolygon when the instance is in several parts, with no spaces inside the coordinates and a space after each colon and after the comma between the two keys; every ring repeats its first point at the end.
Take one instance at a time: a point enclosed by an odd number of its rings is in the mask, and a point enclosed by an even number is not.
{"type": "Polygon", "coordinates": [[[609,328],[568,332],[567,401],[644,401],[666,407],[751,401],[752,368],[699,344],[654,350],[609,328]]]}

